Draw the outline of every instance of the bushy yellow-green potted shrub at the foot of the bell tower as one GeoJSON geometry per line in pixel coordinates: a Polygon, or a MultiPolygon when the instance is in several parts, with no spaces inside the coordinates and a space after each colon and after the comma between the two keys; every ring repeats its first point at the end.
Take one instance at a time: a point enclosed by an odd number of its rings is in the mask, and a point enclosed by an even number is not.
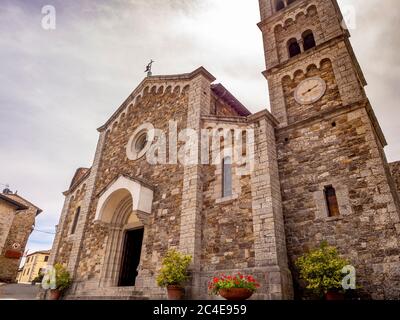
{"type": "Polygon", "coordinates": [[[336,248],[322,242],[318,249],[299,257],[295,264],[307,289],[326,300],[344,299],[342,269],[349,263],[339,256],[336,248]]]}

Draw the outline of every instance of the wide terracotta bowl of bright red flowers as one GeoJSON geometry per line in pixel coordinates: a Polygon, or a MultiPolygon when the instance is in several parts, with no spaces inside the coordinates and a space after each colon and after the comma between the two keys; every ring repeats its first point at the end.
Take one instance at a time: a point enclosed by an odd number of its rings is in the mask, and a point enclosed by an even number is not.
{"type": "Polygon", "coordinates": [[[208,285],[211,294],[220,295],[232,301],[249,299],[259,287],[259,283],[253,276],[242,275],[240,272],[234,276],[214,277],[208,285]]]}

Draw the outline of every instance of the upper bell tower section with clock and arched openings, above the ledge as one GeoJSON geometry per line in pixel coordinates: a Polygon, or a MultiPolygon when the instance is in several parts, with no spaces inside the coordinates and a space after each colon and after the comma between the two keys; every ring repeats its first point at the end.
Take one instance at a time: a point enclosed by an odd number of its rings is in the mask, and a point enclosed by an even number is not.
{"type": "Polygon", "coordinates": [[[259,1],[264,75],[281,126],[366,98],[336,0],[259,1]]]}

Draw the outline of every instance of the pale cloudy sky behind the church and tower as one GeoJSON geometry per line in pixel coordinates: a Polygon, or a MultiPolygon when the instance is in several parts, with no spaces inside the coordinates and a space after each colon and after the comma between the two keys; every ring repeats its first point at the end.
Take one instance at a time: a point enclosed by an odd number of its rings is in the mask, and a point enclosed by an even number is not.
{"type": "MultiPolygon", "coordinates": [[[[400,160],[398,0],[352,5],[352,43],[368,96],[400,160]]],[[[203,65],[251,111],[269,108],[257,0],[0,0],[0,188],[41,207],[38,230],[54,232],[76,168],[89,167],[102,125],[143,79],[203,65]],[[56,9],[44,30],[42,7],[56,9]]],[[[28,249],[51,247],[34,232],[28,249]]]]}

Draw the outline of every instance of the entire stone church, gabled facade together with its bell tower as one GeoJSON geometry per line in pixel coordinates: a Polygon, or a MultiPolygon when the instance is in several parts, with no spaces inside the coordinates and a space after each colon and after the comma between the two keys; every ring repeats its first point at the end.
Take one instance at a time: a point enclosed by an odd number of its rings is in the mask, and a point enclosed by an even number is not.
{"type": "Polygon", "coordinates": [[[49,259],[73,275],[67,298],[165,298],[155,278],[170,248],[193,257],[188,298],[209,298],[212,276],[238,271],[260,281],[256,299],[298,298],[294,261],[323,240],[355,266],[365,297],[400,297],[400,167],[385,158],[337,2],[260,0],[260,10],[271,112],[251,114],[200,67],[146,77],[98,129],[49,259]],[[148,161],[165,136],[144,124],[167,133],[167,162],[148,161]],[[225,152],[172,161],[182,139],[171,132],[187,128],[199,140],[222,133],[210,150],[246,132],[251,169],[225,152]]]}

